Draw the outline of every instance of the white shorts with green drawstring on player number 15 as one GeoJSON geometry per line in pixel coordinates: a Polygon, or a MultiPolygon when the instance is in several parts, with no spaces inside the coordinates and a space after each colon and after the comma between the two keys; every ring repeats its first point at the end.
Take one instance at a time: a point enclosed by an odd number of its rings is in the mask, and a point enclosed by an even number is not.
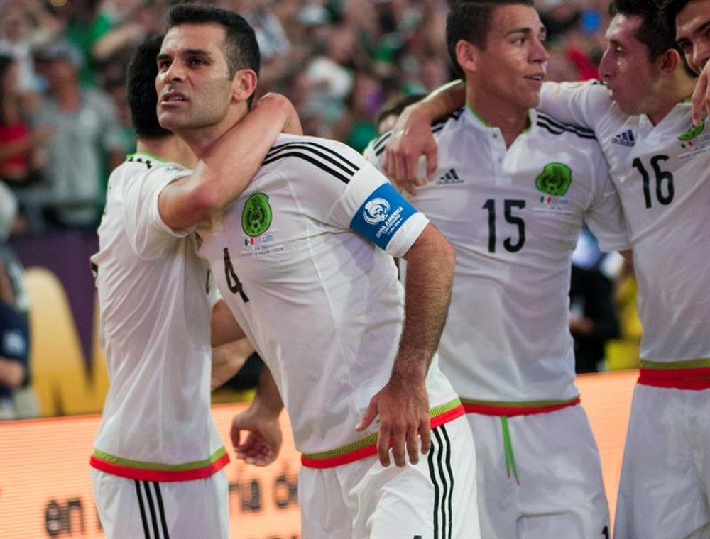
{"type": "Polygon", "coordinates": [[[599,450],[581,406],[466,416],[476,439],[484,538],[610,537],[599,450]]]}

